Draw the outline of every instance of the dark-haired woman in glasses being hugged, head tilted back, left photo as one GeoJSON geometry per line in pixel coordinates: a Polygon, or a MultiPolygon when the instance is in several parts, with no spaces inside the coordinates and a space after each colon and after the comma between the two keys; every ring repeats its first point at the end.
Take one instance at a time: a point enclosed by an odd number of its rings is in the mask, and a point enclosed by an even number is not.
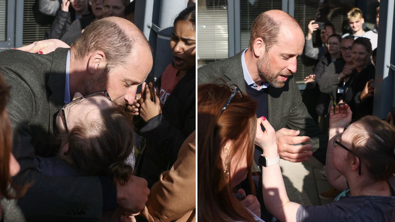
{"type": "Polygon", "coordinates": [[[56,117],[61,145],[57,157],[36,156],[36,171],[51,176],[110,176],[126,183],[134,169],[134,130],[130,117],[107,91],[79,93],[56,117]]]}

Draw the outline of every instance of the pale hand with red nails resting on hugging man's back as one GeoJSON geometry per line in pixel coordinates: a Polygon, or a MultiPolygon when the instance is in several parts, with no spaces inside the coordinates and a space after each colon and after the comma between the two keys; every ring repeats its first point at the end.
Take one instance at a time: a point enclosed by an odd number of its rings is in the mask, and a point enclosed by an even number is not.
{"type": "Polygon", "coordinates": [[[57,48],[70,48],[70,46],[60,40],[51,39],[35,41],[30,45],[26,45],[16,49],[29,53],[48,54],[55,51],[55,49],[57,48]]]}

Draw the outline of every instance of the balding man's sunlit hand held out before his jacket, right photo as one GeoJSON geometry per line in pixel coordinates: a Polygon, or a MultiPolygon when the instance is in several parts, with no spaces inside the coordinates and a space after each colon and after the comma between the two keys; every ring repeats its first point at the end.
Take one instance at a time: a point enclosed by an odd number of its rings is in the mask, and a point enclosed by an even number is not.
{"type": "Polygon", "coordinates": [[[298,143],[306,143],[310,141],[308,136],[297,136],[299,130],[289,130],[282,128],[276,131],[278,155],[283,160],[290,162],[303,162],[307,161],[308,157],[313,155],[311,152],[312,145],[292,145],[298,143]]]}

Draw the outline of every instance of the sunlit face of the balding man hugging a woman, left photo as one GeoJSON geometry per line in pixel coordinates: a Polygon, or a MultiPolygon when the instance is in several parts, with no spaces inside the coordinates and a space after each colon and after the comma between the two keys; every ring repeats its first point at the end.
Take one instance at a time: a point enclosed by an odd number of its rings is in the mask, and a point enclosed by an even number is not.
{"type": "Polygon", "coordinates": [[[115,104],[133,104],[137,86],[145,81],[152,69],[152,55],[147,47],[135,44],[128,61],[88,81],[85,87],[87,93],[107,90],[115,104]]]}

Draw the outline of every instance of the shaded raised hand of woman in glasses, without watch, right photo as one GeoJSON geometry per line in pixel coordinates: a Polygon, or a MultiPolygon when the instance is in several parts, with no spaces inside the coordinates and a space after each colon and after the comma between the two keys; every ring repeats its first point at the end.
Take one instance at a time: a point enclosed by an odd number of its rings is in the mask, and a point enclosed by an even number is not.
{"type": "Polygon", "coordinates": [[[329,129],[340,130],[341,132],[351,122],[352,111],[348,104],[331,107],[329,111],[329,129]]]}

